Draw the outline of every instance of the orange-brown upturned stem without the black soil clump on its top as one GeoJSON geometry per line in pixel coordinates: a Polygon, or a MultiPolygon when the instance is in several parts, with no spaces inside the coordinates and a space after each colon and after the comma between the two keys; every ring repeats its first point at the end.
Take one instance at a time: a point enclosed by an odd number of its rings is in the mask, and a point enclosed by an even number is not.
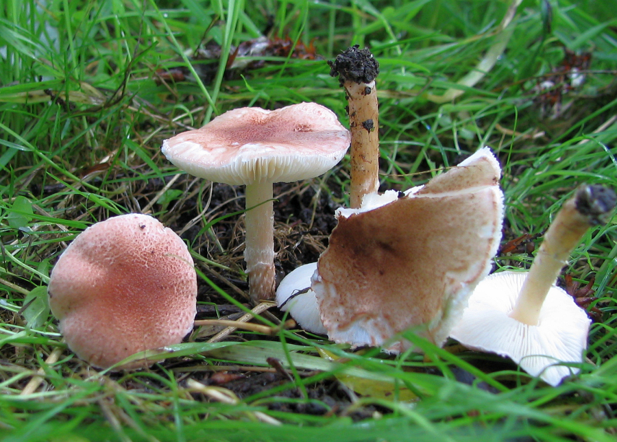
{"type": "Polygon", "coordinates": [[[377,91],[370,83],[343,82],[348,95],[351,208],[360,208],[364,195],[379,188],[379,134],[377,91]]]}

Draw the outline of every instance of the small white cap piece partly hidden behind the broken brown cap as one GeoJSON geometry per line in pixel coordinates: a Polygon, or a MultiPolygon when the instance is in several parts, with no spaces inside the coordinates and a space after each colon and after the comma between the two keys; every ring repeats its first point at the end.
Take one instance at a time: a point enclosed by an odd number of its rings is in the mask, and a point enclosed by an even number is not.
{"type": "Polygon", "coordinates": [[[317,297],[311,290],[311,277],[316,270],[317,262],[311,262],[301,265],[285,276],[276,289],[276,304],[280,310],[288,311],[298,325],[307,332],[326,334],[328,330],[319,319],[317,297]]]}

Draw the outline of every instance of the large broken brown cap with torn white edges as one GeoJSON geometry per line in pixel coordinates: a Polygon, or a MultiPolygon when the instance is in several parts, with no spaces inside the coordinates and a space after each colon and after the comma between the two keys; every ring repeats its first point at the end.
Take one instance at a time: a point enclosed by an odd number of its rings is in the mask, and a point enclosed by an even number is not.
{"type": "Polygon", "coordinates": [[[400,351],[407,341],[388,341],[414,328],[441,345],[496,254],[499,177],[484,148],[396,201],[339,216],[313,277],[330,339],[400,351]]]}

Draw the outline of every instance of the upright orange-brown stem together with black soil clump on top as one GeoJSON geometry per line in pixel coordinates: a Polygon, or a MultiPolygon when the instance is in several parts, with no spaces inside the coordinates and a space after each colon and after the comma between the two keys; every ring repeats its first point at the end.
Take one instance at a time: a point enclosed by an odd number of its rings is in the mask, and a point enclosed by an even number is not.
{"type": "Polygon", "coordinates": [[[368,49],[355,45],[328,62],[339,76],[348,100],[350,148],[350,207],[360,208],[367,193],[379,187],[378,103],[375,78],[379,64],[368,49]]]}

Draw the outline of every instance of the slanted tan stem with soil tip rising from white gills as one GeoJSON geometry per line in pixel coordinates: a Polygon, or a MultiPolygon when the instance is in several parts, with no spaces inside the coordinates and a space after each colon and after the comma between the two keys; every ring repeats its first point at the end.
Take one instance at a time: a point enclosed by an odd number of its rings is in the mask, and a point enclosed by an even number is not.
{"type": "Polygon", "coordinates": [[[549,226],[510,317],[537,326],[540,309],[570,253],[591,225],[603,223],[615,206],[615,194],[603,186],[579,186],[549,226]]]}

